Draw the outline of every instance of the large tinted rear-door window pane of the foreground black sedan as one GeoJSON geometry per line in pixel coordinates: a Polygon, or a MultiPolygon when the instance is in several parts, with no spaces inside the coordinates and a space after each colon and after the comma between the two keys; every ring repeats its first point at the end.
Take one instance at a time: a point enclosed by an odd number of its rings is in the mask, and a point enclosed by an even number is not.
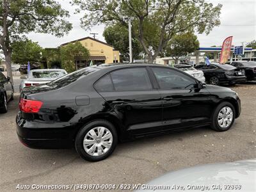
{"type": "Polygon", "coordinates": [[[111,72],[116,91],[150,90],[152,85],[146,68],[124,68],[111,72]]]}

